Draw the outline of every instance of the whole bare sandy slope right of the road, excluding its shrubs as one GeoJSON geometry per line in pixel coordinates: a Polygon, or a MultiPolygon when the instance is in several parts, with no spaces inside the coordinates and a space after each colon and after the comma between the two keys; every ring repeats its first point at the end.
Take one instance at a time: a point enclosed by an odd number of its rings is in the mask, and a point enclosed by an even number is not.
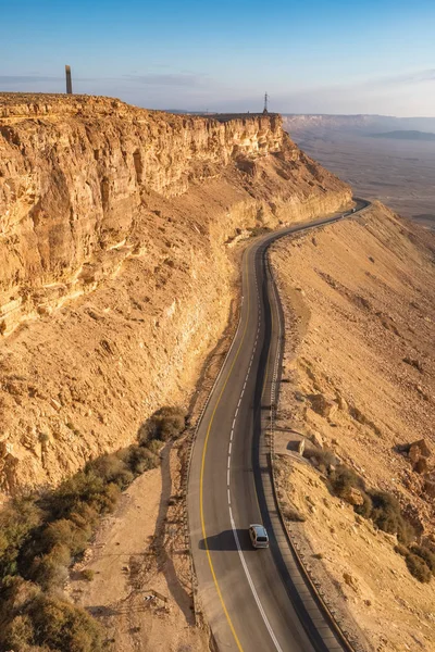
{"type": "MultiPolygon", "coordinates": [[[[434,252],[430,233],[381,206],[272,252],[286,315],[279,439],[291,428],[316,432],[369,486],[395,493],[432,546],[434,500],[424,486],[435,463],[434,252]],[[314,394],[331,411],[315,411],[314,394]],[[421,438],[433,450],[425,476],[396,449],[421,438]]],[[[419,584],[393,537],[360,523],[318,471],[283,459],[283,486],[307,517],[295,536],[335,609],[361,628],[368,649],[435,650],[435,579],[419,584]]]]}

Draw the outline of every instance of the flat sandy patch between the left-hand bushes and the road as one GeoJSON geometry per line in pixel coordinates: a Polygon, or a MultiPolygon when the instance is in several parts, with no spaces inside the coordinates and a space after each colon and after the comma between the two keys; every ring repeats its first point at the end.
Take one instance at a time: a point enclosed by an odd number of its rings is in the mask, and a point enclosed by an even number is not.
{"type": "Polygon", "coordinates": [[[130,485],[72,573],[71,598],[103,623],[116,652],[209,649],[192,609],[179,452],[166,449],[161,468],[130,485]]]}

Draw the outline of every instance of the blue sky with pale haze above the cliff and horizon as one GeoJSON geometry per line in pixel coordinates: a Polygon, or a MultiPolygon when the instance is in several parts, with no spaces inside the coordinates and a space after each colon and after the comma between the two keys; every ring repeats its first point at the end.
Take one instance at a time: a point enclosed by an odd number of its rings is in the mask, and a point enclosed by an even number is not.
{"type": "Polygon", "coordinates": [[[434,0],[0,0],[0,91],[435,115],[434,0]]]}

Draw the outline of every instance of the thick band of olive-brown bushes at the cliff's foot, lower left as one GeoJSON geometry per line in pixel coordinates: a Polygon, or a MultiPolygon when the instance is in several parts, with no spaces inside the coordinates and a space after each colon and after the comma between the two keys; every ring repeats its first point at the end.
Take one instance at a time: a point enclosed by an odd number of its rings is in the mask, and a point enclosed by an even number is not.
{"type": "MultiPolygon", "coordinates": [[[[57,489],[10,501],[0,514],[0,650],[98,652],[101,626],[63,595],[69,567],[121,492],[159,464],[159,451],[185,428],[185,412],[162,408],[138,444],[89,462],[57,489]]],[[[91,581],[91,574],[85,579],[91,581]]]]}

